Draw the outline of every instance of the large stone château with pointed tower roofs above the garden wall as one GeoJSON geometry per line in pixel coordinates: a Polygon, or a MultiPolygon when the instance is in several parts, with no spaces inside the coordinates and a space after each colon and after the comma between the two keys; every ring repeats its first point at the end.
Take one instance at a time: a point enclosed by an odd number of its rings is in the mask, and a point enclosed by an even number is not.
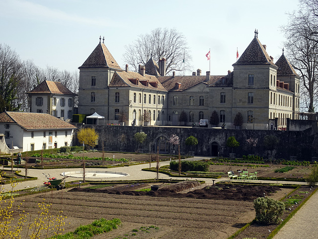
{"type": "Polygon", "coordinates": [[[165,75],[165,59],[151,57],[139,72],[122,69],[104,44],[99,43],[79,67],[79,114],[97,112],[106,123],[126,125],[186,125],[210,119],[214,111],[219,125],[235,128],[279,129],[287,119],[298,119],[300,77],[283,54],[274,63],[255,31],[254,38],[227,75],[165,75]]]}

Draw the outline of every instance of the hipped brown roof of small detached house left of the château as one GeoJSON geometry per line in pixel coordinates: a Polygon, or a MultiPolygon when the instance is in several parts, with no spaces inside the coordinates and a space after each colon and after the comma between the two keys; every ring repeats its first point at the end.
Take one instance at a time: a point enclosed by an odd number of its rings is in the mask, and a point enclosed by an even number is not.
{"type": "Polygon", "coordinates": [[[43,81],[32,91],[26,92],[26,94],[63,94],[77,96],[77,94],[71,92],[61,82],[57,81],[43,81]]]}

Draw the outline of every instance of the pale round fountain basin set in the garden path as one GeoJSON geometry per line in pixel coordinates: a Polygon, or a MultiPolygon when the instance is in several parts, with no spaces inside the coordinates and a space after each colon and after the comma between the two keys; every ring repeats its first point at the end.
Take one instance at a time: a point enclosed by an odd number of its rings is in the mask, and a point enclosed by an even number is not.
{"type": "MultiPolygon", "coordinates": [[[[82,178],[83,171],[70,171],[61,173],[62,176],[82,178]]],[[[110,171],[85,171],[85,178],[117,178],[129,176],[128,173],[110,172],[110,171]]]]}

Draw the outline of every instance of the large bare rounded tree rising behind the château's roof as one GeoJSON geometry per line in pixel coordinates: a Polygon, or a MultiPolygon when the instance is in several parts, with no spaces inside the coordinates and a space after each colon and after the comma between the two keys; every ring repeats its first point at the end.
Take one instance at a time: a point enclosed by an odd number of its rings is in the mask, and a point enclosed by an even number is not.
{"type": "Polygon", "coordinates": [[[140,35],[133,44],[125,48],[124,61],[136,72],[138,65],[145,65],[151,57],[156,62],[163,57],[166,59],[166,74],[191,69],[192,57],[185,36],[174,28],[156,28],[151,33],[140,35]]]}

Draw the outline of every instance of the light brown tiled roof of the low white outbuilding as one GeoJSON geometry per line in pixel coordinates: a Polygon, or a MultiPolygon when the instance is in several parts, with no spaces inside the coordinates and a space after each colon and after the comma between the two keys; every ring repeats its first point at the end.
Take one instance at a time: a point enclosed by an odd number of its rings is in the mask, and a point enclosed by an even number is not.
{"type": "Polygon", "coordinates": [[[2,112],[0,113],[1,123],[17,123],[26,130],[37,129],[72,129],[74,125],[43,113],[28,112],[2,112]]]}

